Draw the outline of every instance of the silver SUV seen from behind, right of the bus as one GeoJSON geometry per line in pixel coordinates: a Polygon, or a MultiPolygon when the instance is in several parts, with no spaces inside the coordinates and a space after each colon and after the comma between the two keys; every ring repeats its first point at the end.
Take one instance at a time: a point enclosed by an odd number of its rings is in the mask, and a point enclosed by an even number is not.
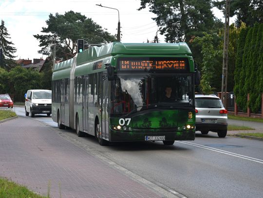
{"type": "Polygon", "coordinates": [[[220,138],[227,133],[227,110],[216,95],[195,95],[196,130],[202,134],[217,132],[220,138]]]}

